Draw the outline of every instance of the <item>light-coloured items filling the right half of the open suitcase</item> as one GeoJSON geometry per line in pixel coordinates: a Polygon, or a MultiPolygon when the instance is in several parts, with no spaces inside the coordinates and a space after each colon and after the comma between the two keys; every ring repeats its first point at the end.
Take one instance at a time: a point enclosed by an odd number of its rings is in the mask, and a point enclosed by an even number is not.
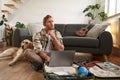
{"type": "Polygon", "coordinates": [[[120,66],[111,62],[96,63],[89,71],[96,77],[120,79],[120,66]]]}

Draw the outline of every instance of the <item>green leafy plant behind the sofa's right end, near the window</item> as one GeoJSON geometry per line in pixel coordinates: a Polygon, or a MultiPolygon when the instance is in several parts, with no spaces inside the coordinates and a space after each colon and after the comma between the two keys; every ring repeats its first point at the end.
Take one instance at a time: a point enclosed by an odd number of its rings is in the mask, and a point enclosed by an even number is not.
{"type": "Polygon", "coordinates": [[[88,5],[83,10],[83,13],[90,18],[90,21],[95,20],[97,17],[99,17],[100,21],[103,21],[107,18],[107,14],[104,11],[99,12],[100,7],[100,4],[88,5]]]}

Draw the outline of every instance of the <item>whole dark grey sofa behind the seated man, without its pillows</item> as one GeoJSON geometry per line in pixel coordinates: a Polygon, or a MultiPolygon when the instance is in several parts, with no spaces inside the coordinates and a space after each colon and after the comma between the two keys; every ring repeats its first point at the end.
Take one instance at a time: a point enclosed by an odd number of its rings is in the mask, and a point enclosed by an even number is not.
{"type": "MultiPolygon", "coordinates": [[[[75,31],[80,27],[87,27],[90,30],[93,25],[89,24],[55,24],[55,29],[61,32],[65,50],[76,50],[78,52],[92,54],[111,54],[112,36],[109,32],[103,31],[97,37],[79,37],[75,31]]],[[[27,29],[16,29],[13,34],[13,46],[19,47],[24,39],[32,40],[32,35],[27,29]]]]}

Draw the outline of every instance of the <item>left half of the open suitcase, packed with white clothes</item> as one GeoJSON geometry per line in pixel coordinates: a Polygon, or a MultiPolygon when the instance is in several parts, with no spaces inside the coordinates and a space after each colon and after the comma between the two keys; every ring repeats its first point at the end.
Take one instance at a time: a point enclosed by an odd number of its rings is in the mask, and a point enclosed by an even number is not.
{"type": "Polygon", "coordinates": [[[94,80],[94,75],[78,75],[74,67],[48,67],[45,66],[43,74],[46,80],[94,80]]]}

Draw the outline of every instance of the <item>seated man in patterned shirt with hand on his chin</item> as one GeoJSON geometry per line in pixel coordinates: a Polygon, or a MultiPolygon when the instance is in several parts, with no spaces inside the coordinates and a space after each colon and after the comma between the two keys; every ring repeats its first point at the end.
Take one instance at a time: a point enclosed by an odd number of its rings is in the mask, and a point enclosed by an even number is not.
{"type": "Polygon", "coordinates": [[[59,31],[54,29],[52,16],[46,15],[43,19],[43,25],[45,28],[33,35],[34,50],[25,51],[26,59],[32,63],[32,67],[36,71],[38,70],[37,64],[42,66],[44,62],[49,62],[51,50],[64,50],[62,36],[59,31]]]}

